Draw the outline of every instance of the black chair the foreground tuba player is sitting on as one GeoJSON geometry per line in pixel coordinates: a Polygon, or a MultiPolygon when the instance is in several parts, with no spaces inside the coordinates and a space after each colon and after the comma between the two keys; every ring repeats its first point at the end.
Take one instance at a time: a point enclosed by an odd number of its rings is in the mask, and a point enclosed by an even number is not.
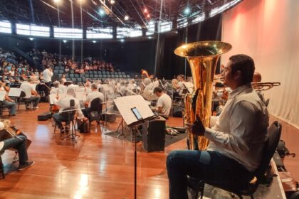
{"type": "MultiPolygon", "coordinates": [[[[221,184],[215,184],[215,183],[209,183],[208,181],[201,181],[199,183],[196,194],[194,195],[194,198],[198,198],[198,193],[201,193],[201,199],[204,195],[204,184],[212,185],[216,188],[221,188],[223,190],[229,191],[231,193],[234,193],[235,195],[238,195],[238,198],[243,198],[242,195],[250,195],[251,199],[253,199],[253,193],[256,192],[256,189],[258,188],[258,185],[260,183],[269,183],[267,181],[267,177],[265,176],[266,171],[270,167],[270,161],[273,157],[274,152],[276,151],[276,147],[278,146],[278,142],[280,140],[281,135],[281,124],[279,122],[273,122],[271,126],[268,128],[268,140],[266,141],[265,148],[263,150],[263,156],[261,160],[260,166],[256,169],[254,172],[254,178],[250,182],[238,182],[236,184],[236,188],[233,188],[228,185],[221,185],[221,184]],[[241,184],[245,184],[245,188],[238,188],[241,184]]],[[[272,176],[273,177],[273,176],[272,176]]]]}

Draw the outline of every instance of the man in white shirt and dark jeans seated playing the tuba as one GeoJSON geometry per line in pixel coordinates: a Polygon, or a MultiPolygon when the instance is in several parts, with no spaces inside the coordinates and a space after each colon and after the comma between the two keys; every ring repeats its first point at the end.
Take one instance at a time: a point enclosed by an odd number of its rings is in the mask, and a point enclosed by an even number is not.
{"type": "Polygon", "coordinates": [[[253,178],[268,137],[268,111],[251,87],[254,70],[247,55],[229,58],[224,83],[232,92],[223,112],[211,118],[211,129],[200,118],[192,126],[193,134],[209,139],[208,148],[172,151],[167,157],[169,198],[187,198],[187,176],[231,188],[242,188],[253,178]]]}

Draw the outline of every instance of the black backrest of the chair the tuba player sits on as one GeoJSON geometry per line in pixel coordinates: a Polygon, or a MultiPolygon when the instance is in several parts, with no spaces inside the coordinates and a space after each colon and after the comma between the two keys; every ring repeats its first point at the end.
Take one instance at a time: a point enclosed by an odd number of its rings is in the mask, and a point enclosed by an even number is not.
{"type": "Polygon", "coordinates": [[[269,167],[271,158],[273,157],[274,152],[278,146],[281,135],[281,124],[278,121],[275,121],[268,128],[268,140],[266,141],[265,148],[263,151],[263,156],[261,159],[261,164],[255,172],[256,178],[261,180],[269,167]]]}

